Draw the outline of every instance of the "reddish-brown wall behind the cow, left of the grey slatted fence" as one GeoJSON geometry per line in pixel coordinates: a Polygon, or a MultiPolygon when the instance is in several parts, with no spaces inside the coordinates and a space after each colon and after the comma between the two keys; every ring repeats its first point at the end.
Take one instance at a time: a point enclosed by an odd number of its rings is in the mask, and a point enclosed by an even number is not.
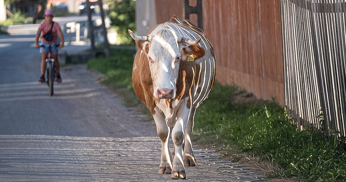
{"type": "MultiPolygon", "coordinates": [[[[195,5],[195,0],[190,0],[195,5]]],[[[217,80],[284,105],[279,0],[203,0],[203,31],[214,46],[217,80]]],[[[183,18],[183,0],[155,0],[157,23],[183,18]]],[[[195,15],[190,16],[197,25],[195,15]]]]}

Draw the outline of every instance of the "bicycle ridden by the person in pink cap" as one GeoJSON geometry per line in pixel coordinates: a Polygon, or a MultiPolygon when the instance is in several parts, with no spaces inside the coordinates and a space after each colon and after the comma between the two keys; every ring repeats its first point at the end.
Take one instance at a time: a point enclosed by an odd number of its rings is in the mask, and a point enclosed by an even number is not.
{"type": "MultiPolygon", "coordinates": [[[[55,80],[54,59],[52,58],[51,47],[53,46],[58,47],[59,45],[52,43],[46,46],[49,47],[48,58],[46,59],[46,63],[47,63],[47,81],[46,82],[49,87],[49,95],[52,96],[54,94],[53,85],[54,85],[54,81],[56,80],[55,80]]],[[[40,45],[40,47],[46,47],[46,46],[40,45]]]]}

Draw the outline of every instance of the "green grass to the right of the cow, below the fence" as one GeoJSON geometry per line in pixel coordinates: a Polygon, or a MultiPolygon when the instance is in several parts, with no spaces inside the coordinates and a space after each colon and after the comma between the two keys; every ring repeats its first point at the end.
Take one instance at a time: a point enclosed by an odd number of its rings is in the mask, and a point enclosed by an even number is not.
{"type": "Polygon", "coordinates": [[[233,103],[236,86],[216,84],[196,110],[194,134],[199,142],[225,145],[221,154],[231,156],[236,146],[251,155],[269,158],[282,170],[270,177],[292,176],[307,181],[343,181],[346,154],[336,136],[328,140],[311,130],[300,131],[284,109],[274,102],[233,103]]]}

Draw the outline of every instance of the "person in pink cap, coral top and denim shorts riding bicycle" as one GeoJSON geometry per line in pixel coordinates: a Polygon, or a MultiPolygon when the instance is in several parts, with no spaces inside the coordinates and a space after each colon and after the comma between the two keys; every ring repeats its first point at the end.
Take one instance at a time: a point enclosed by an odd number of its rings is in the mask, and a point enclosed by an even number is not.
{"type": "MultiPolygon", "coordinates": [[[[49,45],[49,44],[53,44],[56,42],[56,40],[58,39],[58,35],[60,37],[60,45],[59,47],[51,47],[51,54],[52,54],[52,58],[55,60],[54,61],[54,67],[55,67],[55,72],[56,72],[56,81],[57,82],[61,82],[61,76],[60,76],[60,67],[59,67],[59,62],[58,62],[58,48],[62,48],[64,46],[64,35],[61,31],[61,28],[59,26],[58,23],[53,22],[53,11],[52,10],[47,10],[44,14],[45,16],[45,21],[43,21],[37,30],[36,33],[36,37],[35,37],[35,47],[39,48],[40,45],[38,44],[38,39],[41,38],[41,45],[49,45]],[[52,32],[53,35],[53,39],[51,41],[47,41],[44,38],[44,35],[46,33],[48,33],[49,31],[52,32]],[[41,35],[42,33],[42,35],[41,35]]],[[[40,53],[42,55],[42,59],[41,59],[41,77],[38,79],[38,81],[40,82],[45,82],[45,70],[46,70],[46,58],[48,55],[48,51],[49,51],[49,46],[45,46],[45,47],[40,47],[40,53]]]]}

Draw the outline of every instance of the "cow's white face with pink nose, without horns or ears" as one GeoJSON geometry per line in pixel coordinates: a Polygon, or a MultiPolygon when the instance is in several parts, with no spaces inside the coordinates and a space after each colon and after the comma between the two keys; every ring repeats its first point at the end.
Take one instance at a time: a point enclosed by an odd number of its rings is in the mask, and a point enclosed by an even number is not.
{"type": "Polygon", "coordinates": [[[154,97],[173,99],[176,96],[181,54],[176,36],[151,37],[147,58],[153,80],[154,97]]]}

